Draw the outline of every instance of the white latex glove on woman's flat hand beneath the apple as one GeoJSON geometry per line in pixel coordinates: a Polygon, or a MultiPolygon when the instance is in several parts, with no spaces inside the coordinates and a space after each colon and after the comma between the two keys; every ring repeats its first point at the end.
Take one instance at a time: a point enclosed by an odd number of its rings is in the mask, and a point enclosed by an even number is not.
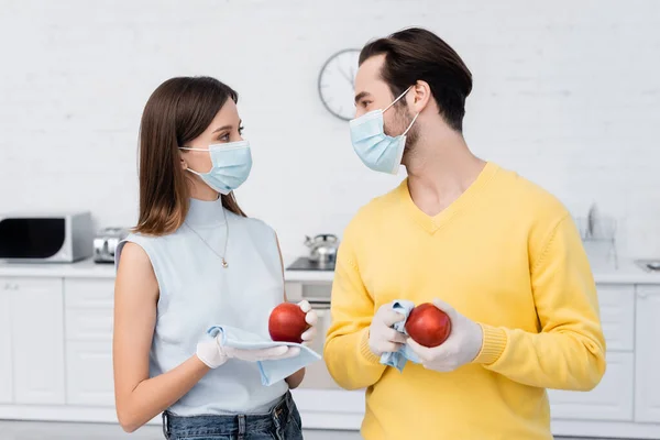
{"type": "Polygon", "coordinates": [[[246,362],[257,361],[277,361],[280,359],[295,358],[300,353],[297,346],[272,346],[260,350],[242,350],[232,346],[223,346],[220,342],[220,334],[216,338],[199,342],[197,344],[196,355],[209,369],[217,369],[230,359],[238,359],[246,362]]]}

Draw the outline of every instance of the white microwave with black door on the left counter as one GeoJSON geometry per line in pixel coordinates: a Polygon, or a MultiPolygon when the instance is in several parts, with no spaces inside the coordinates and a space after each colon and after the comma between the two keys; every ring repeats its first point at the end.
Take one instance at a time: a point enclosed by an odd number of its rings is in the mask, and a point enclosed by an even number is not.
{"type": "Polygon", "coordinates": [[[91,213],[0,215],[0,261],[73,263],[91,256],[91,213]]]}

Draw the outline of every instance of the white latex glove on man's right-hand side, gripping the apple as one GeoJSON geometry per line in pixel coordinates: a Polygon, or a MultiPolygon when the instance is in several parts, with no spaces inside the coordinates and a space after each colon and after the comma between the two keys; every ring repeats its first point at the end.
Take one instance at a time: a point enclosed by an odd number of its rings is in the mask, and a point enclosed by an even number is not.
{"type": "Polygon", "coordinates": [[[418,344],[408,338],[408,345],[419,356],[425,369],[450,372],[472,362],[481,351],[483,331],[479,323],[459,314],[449,304],[433,299],[433,305],[449,315],[451,333],[447,341],[435,348],[418,344]]]}

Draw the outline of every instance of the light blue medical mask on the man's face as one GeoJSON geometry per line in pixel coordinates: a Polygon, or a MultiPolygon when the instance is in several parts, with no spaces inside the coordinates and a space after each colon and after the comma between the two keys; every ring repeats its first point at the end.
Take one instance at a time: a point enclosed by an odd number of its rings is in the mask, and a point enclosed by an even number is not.
{"type": "Polygon", "coordinates": [[[406,146],[406,134],[408,134],[419,113],[413,118],[413,122],[406,131],[396,138],[385,134],[383,113],[406,96],[411,87],[408,87],[384,110],[370,111],[349,122],[353,150],[355,150],[362,163],[375,172],[387,174],[397,174],[398,172],[406,146]]]}

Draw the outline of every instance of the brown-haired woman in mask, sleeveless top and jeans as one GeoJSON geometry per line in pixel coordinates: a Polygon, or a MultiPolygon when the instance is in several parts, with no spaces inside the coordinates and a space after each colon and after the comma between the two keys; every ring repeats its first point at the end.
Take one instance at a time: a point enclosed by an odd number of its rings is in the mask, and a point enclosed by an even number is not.
{"type": "MultiPolygon", "coordinates": [[[[289,388],[263,386],[256,360],[299,349],[231,350],[213,324],[267,334],[284,295],[275,232],[233,196],[252,166],[238,95],[213,78],[173,78],[148,99],[140,130],[140,218],[117,252],[114,389],[124,430],[163,413],[167,439],[301,439],[289,388]]],[[[316,334],[316,315],[300,302],[316,334]]]]}

